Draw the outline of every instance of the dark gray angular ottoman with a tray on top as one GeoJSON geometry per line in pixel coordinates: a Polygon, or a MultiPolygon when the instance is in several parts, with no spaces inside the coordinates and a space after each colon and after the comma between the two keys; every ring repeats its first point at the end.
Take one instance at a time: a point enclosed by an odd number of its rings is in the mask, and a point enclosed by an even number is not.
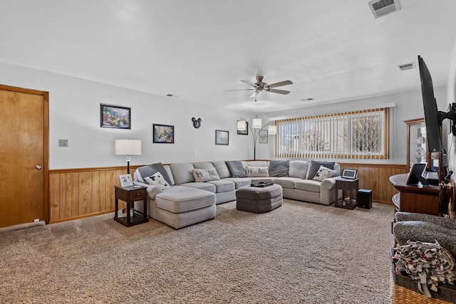
{"type": "Polygon", "coordinates": [[[236,208],[254,213],[269,212],[282,205],[282,187],[242,187],[236,192],[236,208]]]}

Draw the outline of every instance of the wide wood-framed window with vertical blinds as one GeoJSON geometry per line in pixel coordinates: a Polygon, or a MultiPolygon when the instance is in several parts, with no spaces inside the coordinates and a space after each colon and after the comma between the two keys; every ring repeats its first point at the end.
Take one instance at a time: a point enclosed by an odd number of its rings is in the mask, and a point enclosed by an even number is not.
{"type": "Polygon", "coordinates": [[[388,158],[388,108],[278,120],[276,157],[388,158]]]}

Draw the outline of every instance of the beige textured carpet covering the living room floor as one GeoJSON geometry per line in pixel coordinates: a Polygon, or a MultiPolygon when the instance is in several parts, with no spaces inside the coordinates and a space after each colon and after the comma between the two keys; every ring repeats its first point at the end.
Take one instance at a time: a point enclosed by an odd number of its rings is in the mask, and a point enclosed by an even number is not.
{"type": "Polygon", "coordinates": [[[391,303],[392,205],[217,205],[175,230],[113,214],[0,235],[0,303],[391,303]]]}

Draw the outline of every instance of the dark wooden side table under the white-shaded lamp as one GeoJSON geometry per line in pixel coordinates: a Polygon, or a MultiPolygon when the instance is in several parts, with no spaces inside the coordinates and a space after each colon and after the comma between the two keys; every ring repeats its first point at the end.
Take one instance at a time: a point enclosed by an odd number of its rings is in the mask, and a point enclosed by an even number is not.
{"type": "Polygon", "coordinates": [[[127,227],[142,224],[148,221],[147,219],[147,192],[146,187],[130,186],[119,187],[115,186],[115,215],[114,220],[118,221],[127,227]],[[127,203],[127,216],[119,217],[119,199],[127,203]],[[130,216],[130,208],[134,207],[135,201],[143,201],[144,214],[137,214],[133,211],[133,216],[130,216]]]}

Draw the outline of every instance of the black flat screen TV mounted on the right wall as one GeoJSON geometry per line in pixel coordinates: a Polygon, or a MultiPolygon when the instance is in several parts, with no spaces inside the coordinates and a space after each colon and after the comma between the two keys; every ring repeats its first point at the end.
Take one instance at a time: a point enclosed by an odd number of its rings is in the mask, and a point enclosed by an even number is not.
{"type": "Polygon", "coordinates": [[[418,65],[420,66],[421,93],[423,94],[423,107],[425,110],[427,149],[431,153],[441,152],[440,127],[442,126],[442,120],[440,119],[437,102],[434,97],[432,78],[421,56],[418,56],[418,65]]]}

